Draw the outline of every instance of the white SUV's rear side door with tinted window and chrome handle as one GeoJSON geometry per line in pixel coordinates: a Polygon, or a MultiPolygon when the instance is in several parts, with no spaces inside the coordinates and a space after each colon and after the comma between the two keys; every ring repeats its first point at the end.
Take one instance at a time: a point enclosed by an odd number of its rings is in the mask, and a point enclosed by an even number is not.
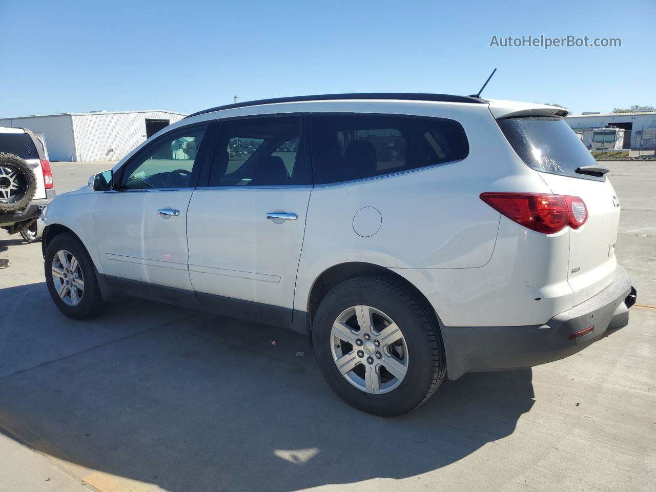
{"type": "Polygon", "coordinates": [[[232,298],[288,308],[268,311],[272,318],[291,314],[312,191],[303,127],[301,115],[222,123],[187,218],[189,271],[201,302],[252,307],[232,298]]]}

